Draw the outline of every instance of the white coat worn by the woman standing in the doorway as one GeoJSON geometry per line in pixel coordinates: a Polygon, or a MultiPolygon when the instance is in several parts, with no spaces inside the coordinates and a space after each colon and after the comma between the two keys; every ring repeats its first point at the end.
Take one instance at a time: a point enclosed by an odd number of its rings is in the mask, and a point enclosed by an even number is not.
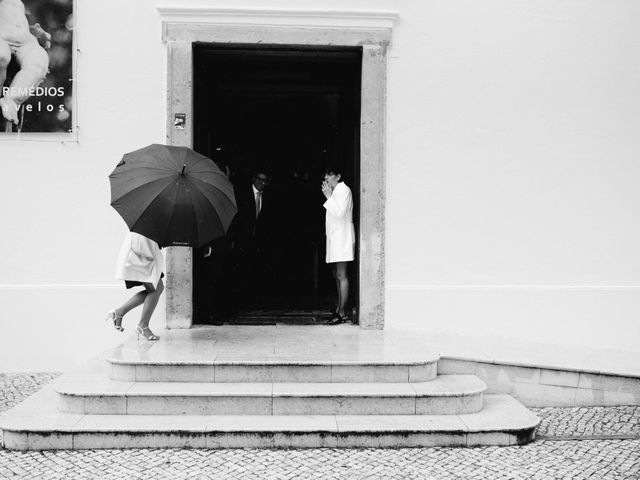
{"type": "Polygon", "coordinates": [[[353,261],[356,234],[353,227],[353,196],[344,182],[336,185],[331,197],[324,202],[327,210],[327,263],[353,261]]]}

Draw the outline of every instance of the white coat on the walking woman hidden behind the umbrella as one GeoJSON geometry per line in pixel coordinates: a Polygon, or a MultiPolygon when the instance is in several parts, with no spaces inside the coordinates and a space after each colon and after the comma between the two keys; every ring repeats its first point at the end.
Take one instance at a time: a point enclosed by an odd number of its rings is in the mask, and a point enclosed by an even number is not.
{"type": "Polygon", "coordinates": [[[118,255],[116,278],[157,287],[163,269],[164,257],[158,244],[139,233],[127,233],[118,255]]]}

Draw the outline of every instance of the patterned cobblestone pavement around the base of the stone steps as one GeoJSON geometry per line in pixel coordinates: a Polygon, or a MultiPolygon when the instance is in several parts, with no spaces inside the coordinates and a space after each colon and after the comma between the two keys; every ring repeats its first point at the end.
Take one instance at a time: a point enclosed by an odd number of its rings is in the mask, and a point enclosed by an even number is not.
{"type": "MultiPolygon", "coordinates": [[[[0,374],[0,410],[56,374],[0,374]]],[[[640,479],[640,407],[537,408],[522,447],[0,450],[1,479],[640,479]],[[613,437],[613,438],[612,438],[613,437]]]]}

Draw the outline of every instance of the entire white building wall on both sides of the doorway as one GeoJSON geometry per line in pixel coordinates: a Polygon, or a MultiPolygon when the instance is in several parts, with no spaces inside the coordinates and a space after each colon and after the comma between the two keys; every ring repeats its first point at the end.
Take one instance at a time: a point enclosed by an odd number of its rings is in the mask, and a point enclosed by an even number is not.
{"type": "MultiPolygon", "coordinates": [[[[78,143],[0,141],[0,371],[67,369],[121,338],[101,323],[127,296],[107,176],[164,142],[155,6],[211,2],[77,3],[78,143]]],[[[387,325],[639,349],[640,6],[395,5],[387,325]]]]}

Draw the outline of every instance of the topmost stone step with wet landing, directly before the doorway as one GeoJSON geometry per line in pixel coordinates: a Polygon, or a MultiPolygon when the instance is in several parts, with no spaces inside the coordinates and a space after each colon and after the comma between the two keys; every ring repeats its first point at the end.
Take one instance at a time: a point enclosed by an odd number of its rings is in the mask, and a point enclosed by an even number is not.
{"type": "Polygon", "coordinates": [[[109,376],[128,382],[426,382],[439,356],[409,333],[353,325],[197,326],[135,335],[106,354],[109,376]]]}

